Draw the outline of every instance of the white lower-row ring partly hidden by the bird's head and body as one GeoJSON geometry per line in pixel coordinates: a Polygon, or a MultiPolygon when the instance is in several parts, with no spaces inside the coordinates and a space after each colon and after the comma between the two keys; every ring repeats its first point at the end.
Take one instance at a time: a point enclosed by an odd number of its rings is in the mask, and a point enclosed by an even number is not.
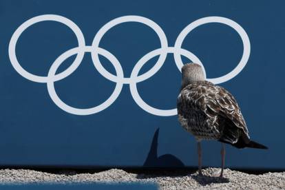
{"type": "MultiPolygon", "coordinates": [[[[140,61],[138,61],[138,63],[136,64],[136,66],[132,70],[131,78],[135,78],[136,76],[138,76],[138,72],[140,71],[142,66],[145,65],[145,63],[147,63],[147,61],[149,61],[149,59],[153,58],[154,56],[161,54],[164,51],[165,50],[160,48],[160,49],[156,49],[152,52],[149,52],[148,54],[143,56],[142,59],[140,59],[140,61]]],[[[167,48],[167,53],[178,53],[177,51],[179,51],[180,54],[182,54],[183,56],[186,56],[191,61],[201,65],[202,69],[204,71],[204,66],[202,65],[201,61],[198,59],[198,57],[196,57],[191,52],[189,52],[187,50],[183,50],[183,49],[177,50],[175,47],[168,47],[167,48]]],[[[205,72],[204,72],[204,74],[206,76],[205,72]]],[[[129,83],[129,89],[131,91],[131,96],[133,96],[134,101],[136,102],[136,104],[140,108],[142,108],[146,112],[149,112],[149,114],[154,114],[156,116],[175,116],[175,115],[177,115],[177,109],[176,108],[174,108],[174,109],[157,109],[157,108],[151,107],[150,105],[145,103],[145,101],[143,101],[142,98],[140,97],[140,94],[138,94],[138,89],[136,87],[136,83],[137,83],[137,81],[129,83]]]]}

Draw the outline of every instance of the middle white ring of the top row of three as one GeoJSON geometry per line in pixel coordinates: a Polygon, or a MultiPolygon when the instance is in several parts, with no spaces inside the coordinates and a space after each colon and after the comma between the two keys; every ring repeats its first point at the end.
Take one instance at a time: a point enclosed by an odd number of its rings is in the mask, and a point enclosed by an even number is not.
{"type": "MultiPolygon", "coordinates": [[[[145,17],[140,17],[140,16],[124,16],[124,17],[118,17],[112,21],[109,21],[107,24],[105,24],[95,35],[94,40],[92,42],[92,46],[94,47],[94,49],[96,50],[99,47],[99,43],[102,39],[102,37],[105,35],[105,33],[110,30],[111,28],[113,28],[115,25],[118,25],[120,23],[125,23],[125,22],[138,22],[138,23],[143,23],[145,25],[148,25],[150,28],[152,28],[154,30],[154,32],[156,32],[156,34],[158,34],[158,37],[160,39],[160,44],[161,44],[161,48],[162,49],[166,49],[167,48],[167,37],[165,36],[165,32],[163,32],[163,30],[160,28],[160,26],[155,23],[154,21],[151,21],[150,19],[147,19],[145,17]]],[[[98,70],[98,72],[100,74],[102,74],[105,78],[107,78],[110,81],[113,81],[115,83],[123,81],[123,83],[125,84],[129,84],[131,83],[131,81],[134,80],[134,78],[118,78],[118,76],[114,76],[114,74],[108,72],[107,70],[105,70],[105,68],[103,67],[102,63],[99,60],[98,54],[96,53],[96,51],[91,53],[92,55],[92,60],[94,63],[94,66],[96,67],[96,70],[98,70]]],[[[167,57],[167,51],[163,51],[162,54],[160,54],[160,57],[158,59],[158,61],[156,62],[156,64],[154,65],[154,67],[151,68],[151,70],[145,72],[144,74],[140,75],[140,78],[147,78],[150,77],[154,74],[156,74],[156,72],[158,72],[158,70],[160,69],[160,67],[162,67],[163,63],[165,62],[165,59],[167,57]]],[[[137,80],[137,79],[135,79],[137,80]]]]}

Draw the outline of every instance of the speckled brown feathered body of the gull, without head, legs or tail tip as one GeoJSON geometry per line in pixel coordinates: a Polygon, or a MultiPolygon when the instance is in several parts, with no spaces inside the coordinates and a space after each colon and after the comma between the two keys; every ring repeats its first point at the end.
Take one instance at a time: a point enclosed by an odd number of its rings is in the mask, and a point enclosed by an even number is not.
{"type": "Polygon", "coordinates": [[[220,140],[238,148],[251,142],[237,101],[223,87],[192,82],[182,88],[177,107],[180,124],[198,140],[220,140]]]}

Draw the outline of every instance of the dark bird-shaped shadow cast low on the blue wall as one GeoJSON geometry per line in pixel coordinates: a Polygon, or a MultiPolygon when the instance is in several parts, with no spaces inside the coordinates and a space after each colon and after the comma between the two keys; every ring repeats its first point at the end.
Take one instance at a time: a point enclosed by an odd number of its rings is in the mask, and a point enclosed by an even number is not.
{"type": "Polygon", "coordinates": [[[171,154],[164,154],[158,157],[158,134],[159,128],[154,133],[151,148],[143,167],[184,167],[183,162],[171,154]]]}

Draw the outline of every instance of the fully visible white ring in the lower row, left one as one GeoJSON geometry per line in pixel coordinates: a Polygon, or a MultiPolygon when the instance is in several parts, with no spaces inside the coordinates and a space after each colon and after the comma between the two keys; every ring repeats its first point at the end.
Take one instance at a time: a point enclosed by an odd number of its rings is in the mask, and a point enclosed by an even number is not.
{"type": "MultiPolygon", "coordinates": [[[[83,48],[81,48],[83,49],[83,48]]],[[[92,52],[94,51],[92,46],[86,46],[84,48],[85,52],[92,52]]],[[[56,91],[54,89],[54,80],[52,80],[52,78],[54,78],[56,70],[59,68],[59,66],[61,65],[61,63],[63,63],[63,61],[65,61],[65,59],[67,59],[68,57],[77,54],[79,50],[78,47],[75,47],[71,50],[68,50],[67,52],[64,52],[63,54],[61,54],[61,56],[59,56],[56,61],[54,61],[54,63],[52,63],[52,66],[50,67],[50,71],[48,72],[48,78],[50,78],[49,81],[47,81],[47,91],[50,94],[50,98],[52,98],[52,101],[54,101],[54,103],[61,109],[63,109],[65,112],[68,112],[70,114],[76,114],[76,115],[90,115],[90,114],[96,114],[98,112],[101,112],[102,110],[106,109],[107,107],[109,107],[110,105],[112,105],[112,103],[114,103],[114,101],[116,101],[116,98],[118,98],[118,96],[120,95],[120,91],[123,88],[123,83],[116,83],[116,87],[114,89],[114,92],[112,93],[112,95],[101,105],[97,105],[95,107],[91,107],[91,108],[87,108],[87,109],[79,109],[76,107],[71,107],[70,105],[67,105],[66,103],[64,103],[63,101],[61,101],[61,98],[59,98],[59,96],[56,94],[56,91]]],[[[116,70],[116,74],[118,75],[118,77],[123,77],[123,69],[122,67],[120,67],[120,63],[118,62],[118,60],[116,59],[116,57],[114,55],[112,55],[110,52],[107,52],[106,50],[103,50],[102,48],[98,48],[97,49],[98,54],[101,54],[103,56],[105,56],[107,59],[109,60],[115,60],[115,62],[111,62],[114,65],[114,68],[116,70]]]]}

